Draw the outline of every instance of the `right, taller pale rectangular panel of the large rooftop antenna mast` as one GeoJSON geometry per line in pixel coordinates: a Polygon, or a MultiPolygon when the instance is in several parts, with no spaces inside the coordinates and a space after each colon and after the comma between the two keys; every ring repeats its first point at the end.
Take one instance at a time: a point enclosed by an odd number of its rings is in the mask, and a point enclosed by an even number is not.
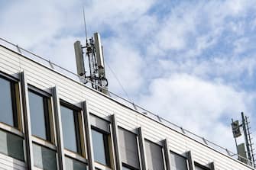
{"type": "Polygon", "coordinates": [[[102,43],[100,40],[99,33],[94,34],[94,40],[95,40],[95,47],[96,47],[96,60],[98,67],[101,69],[104,69],[104,59],[103,59],[103,53],[102,53],[102,43]]]}

